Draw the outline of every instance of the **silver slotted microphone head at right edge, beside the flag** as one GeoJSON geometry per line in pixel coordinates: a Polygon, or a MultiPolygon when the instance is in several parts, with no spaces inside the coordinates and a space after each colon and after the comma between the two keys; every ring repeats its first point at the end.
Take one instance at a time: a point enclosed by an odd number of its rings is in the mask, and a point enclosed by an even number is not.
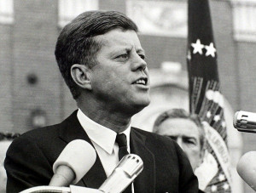
{"type": "Polygon", "coordinates": [[[256,133],[256,113],[237,111],[233,119],[233,125],[240,132],[256,133]]]}

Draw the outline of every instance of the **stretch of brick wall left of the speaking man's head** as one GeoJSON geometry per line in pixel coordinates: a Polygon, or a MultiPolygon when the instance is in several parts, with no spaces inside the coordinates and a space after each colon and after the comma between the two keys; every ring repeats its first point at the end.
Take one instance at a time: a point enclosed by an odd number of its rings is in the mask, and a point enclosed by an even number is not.
{"type": "Polygon", "coordinates": [[[1,27],[1,130],[23,133],[31,129],[34,109],[46,112],[48,124],[61,120],[62,80],[54,57],[57,1],[14,3],[15,22],[1,27]],[[35,84],[28,83],[31,75],[35,84]]]}

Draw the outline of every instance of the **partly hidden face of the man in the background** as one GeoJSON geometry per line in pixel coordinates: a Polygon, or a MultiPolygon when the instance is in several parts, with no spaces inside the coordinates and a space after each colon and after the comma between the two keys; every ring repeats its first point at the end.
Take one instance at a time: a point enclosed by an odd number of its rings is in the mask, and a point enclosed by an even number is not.
{"type": "Polygon", "coordinates": [[[183,118],[166,119],[160,124],[159,133],[170,136],[180,145],[195,171],[202,160],[199,130],[195,122],[183,118]]]}

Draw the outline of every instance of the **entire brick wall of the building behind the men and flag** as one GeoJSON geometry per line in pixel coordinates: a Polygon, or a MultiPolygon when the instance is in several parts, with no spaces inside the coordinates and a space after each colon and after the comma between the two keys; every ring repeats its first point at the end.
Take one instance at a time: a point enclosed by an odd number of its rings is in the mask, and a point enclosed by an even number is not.
{"type": "MultiPolygon", "coordinates": [[[[212,25],[218,48],[221,88],[234,111],[256,111],[256,43],[233,39],[229,1],[212,0],[212,25]]],[[[0,131],[24,133],[32,128],[31,112],[45,111],[47,124],[60,122],[74,109],[75,102],[55,62],[57,0],[15,0],[15,22],[0,24],[0,131]],[[28,77],[36,76],[35,84],[28,77]]],[[[125,0],[101,0],[100,9],[125,13],[125,0]]],[[[162,61],[177,61],[186,70],[185,38],[140,35],[149,69],[162,61]]],[[[235,128],[234,128],[235,129],[235,128]]],[[[243,151],[255,150],[256,139],[243,133],[243,151]]]]}

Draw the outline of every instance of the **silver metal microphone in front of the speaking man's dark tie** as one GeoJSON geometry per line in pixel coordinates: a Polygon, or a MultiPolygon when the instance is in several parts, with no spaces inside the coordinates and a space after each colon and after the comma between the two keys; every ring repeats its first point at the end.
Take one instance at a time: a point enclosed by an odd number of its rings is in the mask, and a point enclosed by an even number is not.
{"type": "Polygon", "coordinates": [[[99,190],[108,193],[122,192],[142,171],[142,158],[135,154],[128,154],[121,159],[99,190]]]}

